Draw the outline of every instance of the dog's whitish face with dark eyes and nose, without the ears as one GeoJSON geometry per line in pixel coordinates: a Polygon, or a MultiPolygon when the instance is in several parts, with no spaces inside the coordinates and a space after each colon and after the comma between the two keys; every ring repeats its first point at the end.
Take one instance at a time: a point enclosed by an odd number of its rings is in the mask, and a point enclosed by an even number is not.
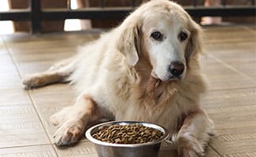
{"type": "Polygon", "coordinates": [[[142,33],[143,45],[153,67],[151,75],[161,81],[183,79],[191,35],[186,20],[157,13],[143,21],[142,33]]]}

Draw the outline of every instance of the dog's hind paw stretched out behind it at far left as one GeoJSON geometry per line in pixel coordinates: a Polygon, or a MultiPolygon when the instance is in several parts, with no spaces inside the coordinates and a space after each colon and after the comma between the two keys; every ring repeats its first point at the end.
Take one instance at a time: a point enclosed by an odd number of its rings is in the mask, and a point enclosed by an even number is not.
{"type": "Polygon", "coordinates": [[[32,89],[35,87],[43,86],[45,84],[41,75],[26,76],[22,80],[22,83],[24,84],[25,89],[32,89]]]}

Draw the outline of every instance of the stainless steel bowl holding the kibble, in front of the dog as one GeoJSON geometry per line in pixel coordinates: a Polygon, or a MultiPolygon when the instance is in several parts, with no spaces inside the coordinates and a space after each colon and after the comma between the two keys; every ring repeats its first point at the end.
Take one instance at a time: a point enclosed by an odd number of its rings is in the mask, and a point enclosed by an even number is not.
{"type": "Polygon", "coordinates": [[[162,141],[168,137],[168,133],[165,128],[148,123],[148,122],[134,122],[134,121],[114,121],[114,122],[104,122],[96,126],[92,126],[85,133],[89,141],[95,144],[98,157],[157,157],[159,148],[162,141]],[[144,144],[111,144],[107,142],[98,141],[91,135],[98,131],[98,128],[102,126],[112,126],[112,125],[127,125],[137,123],[143,126],[151,127],[156,130],[160,130],[164,135],[158,139],[158,141],[147,142],[144,144]]]}

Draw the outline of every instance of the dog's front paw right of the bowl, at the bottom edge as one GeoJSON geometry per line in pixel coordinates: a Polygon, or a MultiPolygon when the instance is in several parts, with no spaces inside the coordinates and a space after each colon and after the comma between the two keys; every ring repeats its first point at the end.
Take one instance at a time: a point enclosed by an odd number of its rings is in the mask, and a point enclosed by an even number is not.
{"type": "Polygon", "coordinates": [[[199,157],[204,155],[204,149],[193,137],[178,137],[177,148],[179,157],[199,157]]]}

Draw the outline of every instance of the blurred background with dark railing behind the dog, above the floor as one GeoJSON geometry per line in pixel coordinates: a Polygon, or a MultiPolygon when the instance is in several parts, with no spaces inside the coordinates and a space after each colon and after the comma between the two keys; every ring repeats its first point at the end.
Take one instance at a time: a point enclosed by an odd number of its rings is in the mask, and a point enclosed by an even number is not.
{"type": "MultiPolygon", "coordinates": [[[[147,1],[149,0],[33,0],[34,4],[32,4],[30,0],[1,0],[0,33],[32,32],[32,29],[35,29],[34,32],[51,32],[115,27],[136,6],[147,1]],[[32,5],[34,6],[31,7],[32,5]],[[47,11],[51,14],[40,14],[47,11]],[[31,12],[34,12],[34,19],[33,15],[29,14],[31,12]],[[94,16],[93,13],[97,15],[94,16]],[[87,15],[90,19],[84,19],[87,15]],[[55,17],[51,19],[50,16],[55,17]],[[79,20],[76,16],[82,17],[83,20],[79,20]],[[37,24],[39,26],[36,27],[34,24],[33,27],[33,20],[38,20],[35,23],[39,23],[37,24]]],[[[255,24],[255,0],[179,0],[176,2],[183,5],[188,13],[191,13],[191,16],[202,25],[255,24]],[[205,16],[208,14],[211,16],[205,16]]]]}

